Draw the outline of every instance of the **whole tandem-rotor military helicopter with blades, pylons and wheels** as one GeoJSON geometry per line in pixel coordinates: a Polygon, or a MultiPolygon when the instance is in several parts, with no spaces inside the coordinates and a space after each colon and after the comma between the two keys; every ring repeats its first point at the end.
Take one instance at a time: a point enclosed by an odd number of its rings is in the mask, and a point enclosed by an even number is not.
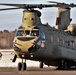
{"type": "MultiPolygon", "coordinates": [[[[50,1],[52,2],[52,1],[50,1]]],[[[70,25],[70,9],[75,4],[52,2],[53,4],[4,4],[16,8],[4,8],[2,10],[24,9],[22,25],[17,29],[14,38],[15,56],[21,58],[18,63],[19,70],[26,70],[26,60],[40,61],[43,65],[57,66],[58,69],[76,67],[76,25],[70,25]],[[41,23],[41,12],[35,8],[58,7],[56,25],[44,25],[41,23]],[[23,61],[25,59],[25,62],[23,61]]],[[[51,15],[51,14],[49,14],[51,15]]],[[[48,16],[49,17],[49,16],[48,16]]]]}

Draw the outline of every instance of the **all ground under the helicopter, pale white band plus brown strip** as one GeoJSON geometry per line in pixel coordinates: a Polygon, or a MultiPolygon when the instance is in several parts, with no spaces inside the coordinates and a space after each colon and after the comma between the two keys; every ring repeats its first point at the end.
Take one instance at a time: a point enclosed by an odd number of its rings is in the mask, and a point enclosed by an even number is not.
{"type": "Polygon", "coordinates": [[[0,50],[3,54],[0,59],[0,75],[76,75],[76,70],[56,70],[56,67],[44,66],[39,68],[39,62],[27,60],[27,71],[18,71],[17,65],[21,59],[12,63],[14,50],[0,50]]]}

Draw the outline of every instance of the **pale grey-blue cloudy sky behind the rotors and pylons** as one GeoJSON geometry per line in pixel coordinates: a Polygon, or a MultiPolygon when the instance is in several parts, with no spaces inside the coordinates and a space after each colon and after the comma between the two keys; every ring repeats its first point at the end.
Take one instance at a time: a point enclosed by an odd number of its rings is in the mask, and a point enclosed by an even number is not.
{"type": "MultiPolygon", "coordinates": [[[[0,0],[0,3],[21,3],[21,4],[47,4],[48,0],[0,0]]],[[[51,1],[51,0],[50,0],[51,1]]],[[[54,0],[65,3],[76,3],[76,0],[54,0]]],[[[6,6],[0,6],[0,8],[5,8],[6,6]]],[[[55,16],[57,8],[44,8],[40,10],[42,12],[41,21],[42,23],[49,23],[51,26],[55,25],[55,16]]],[[[76,23],[76,8],[71,9],[71,17],[73,18],[72,23],[76,23]]],[[[0,11],[0,30],[17,29],[22,23],[22,9],[0,11]]]]}

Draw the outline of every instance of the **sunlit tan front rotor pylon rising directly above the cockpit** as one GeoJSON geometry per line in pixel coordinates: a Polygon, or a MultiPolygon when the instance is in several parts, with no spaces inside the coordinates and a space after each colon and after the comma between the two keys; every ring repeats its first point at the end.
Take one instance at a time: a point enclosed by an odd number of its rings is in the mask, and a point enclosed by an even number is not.
{"type": "Polygon", "coordinates": [[[22,27],[23,28],[33,28],[38,24],[41,24],[41,12],[37,10],[24,10],[22,18],[22,27]]]}

